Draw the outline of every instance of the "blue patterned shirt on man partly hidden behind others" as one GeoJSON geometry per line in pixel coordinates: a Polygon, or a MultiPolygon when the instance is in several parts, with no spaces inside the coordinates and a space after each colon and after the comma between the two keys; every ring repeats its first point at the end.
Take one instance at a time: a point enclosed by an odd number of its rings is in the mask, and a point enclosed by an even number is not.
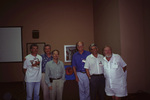
{"type": "Polygon", "coordinates": [[[52,56],[48,57],[46,54],[43,54],[41,56],[42,56],[42,73],[45,73],[46,63],[51,61],[53,59],[53,57],[52,56]]]}

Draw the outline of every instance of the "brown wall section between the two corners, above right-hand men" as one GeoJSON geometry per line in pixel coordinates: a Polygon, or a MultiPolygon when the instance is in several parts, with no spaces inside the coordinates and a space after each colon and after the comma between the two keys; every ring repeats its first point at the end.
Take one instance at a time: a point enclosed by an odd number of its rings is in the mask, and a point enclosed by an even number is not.
{"type": "Polygon", "coordinates": [[[94,0],[94,42],[100,53],[110,45],[114,53],[121,53],[118,0],[94,0]]]}

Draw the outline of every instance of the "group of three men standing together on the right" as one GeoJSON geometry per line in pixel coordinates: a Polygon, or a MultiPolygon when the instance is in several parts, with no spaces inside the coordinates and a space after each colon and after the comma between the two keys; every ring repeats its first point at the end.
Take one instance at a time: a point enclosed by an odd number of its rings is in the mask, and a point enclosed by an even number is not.
{"type": "Polygon", "coordinates": [[[103,48],[103,55],[95,44],[90,45],[90,52],[84,50],[83,42],[77,42],[76,46],[78,52],[73,55],[72,65],[80,100],[97,100],[97,97],[105,100],[105,93],[113,100],[127,96],[127,64],[112,53],[110,46],[103,48]]]}

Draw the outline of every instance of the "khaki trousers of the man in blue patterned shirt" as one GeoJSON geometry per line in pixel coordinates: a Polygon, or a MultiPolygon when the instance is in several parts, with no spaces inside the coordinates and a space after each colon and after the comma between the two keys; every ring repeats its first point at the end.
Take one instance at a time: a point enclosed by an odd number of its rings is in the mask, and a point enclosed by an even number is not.
{"type": "Polygon", "coordinates": [[[41,88],[43,91],[43,100],[50,100],[50,90],[45,82],[45,73],[42,73],[41,88]]]}

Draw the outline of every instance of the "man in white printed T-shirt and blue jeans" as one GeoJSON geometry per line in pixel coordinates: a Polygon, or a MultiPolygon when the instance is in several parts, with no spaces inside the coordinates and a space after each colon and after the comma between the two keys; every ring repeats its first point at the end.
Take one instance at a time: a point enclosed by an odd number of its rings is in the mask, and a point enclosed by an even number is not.
{"type": "Polygon", "coordinates": [[[38,46],[36,44],[32,44],[30,50],[31,54],[25,57],[23,66],[27,92],[26,100],[32,100],[33,92],[34,100],[39,100],[42,57],[37,54],[38,46]]]}

